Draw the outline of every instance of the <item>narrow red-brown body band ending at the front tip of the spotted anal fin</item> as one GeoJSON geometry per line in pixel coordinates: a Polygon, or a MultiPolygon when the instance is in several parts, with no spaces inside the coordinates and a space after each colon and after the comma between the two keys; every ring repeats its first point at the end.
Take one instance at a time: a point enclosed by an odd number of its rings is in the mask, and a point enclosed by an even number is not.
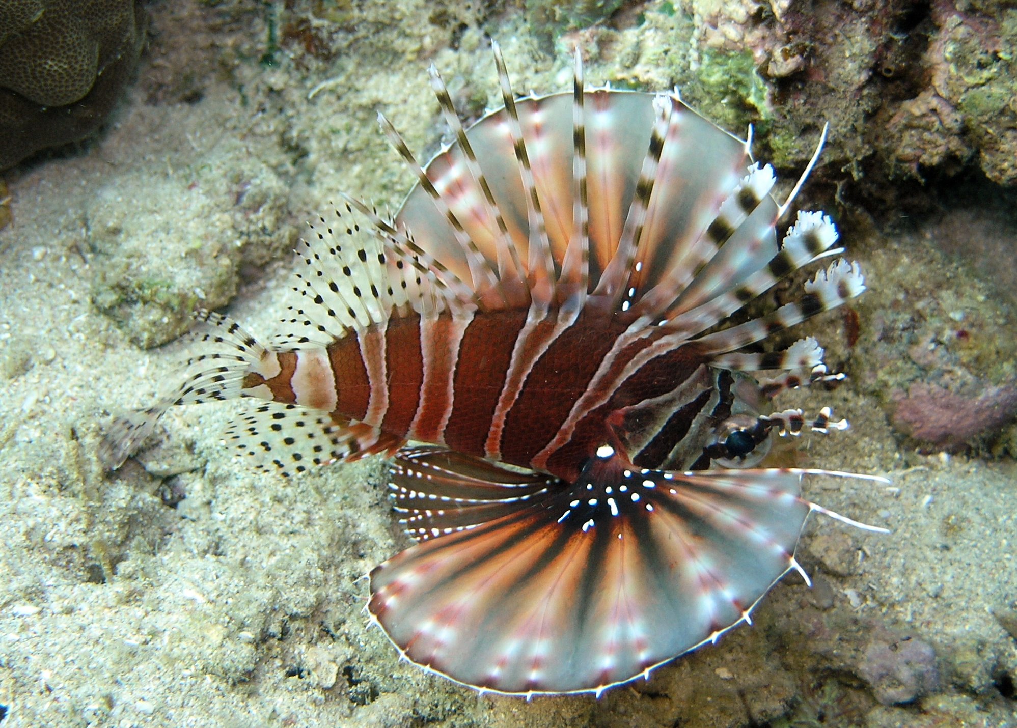
{"type": "Polygon", "coordinates": [[[420,316],[393,318],[385,329],[385,372],[388,375],[388,410],[381,429],[399,435],[410,431],[424,382],[420,349],[420,316]]]}

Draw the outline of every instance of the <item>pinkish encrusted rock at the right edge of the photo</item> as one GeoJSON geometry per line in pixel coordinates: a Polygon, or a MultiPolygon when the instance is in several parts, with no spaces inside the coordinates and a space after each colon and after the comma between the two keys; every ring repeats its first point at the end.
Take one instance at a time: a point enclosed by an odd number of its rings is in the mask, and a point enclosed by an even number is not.
{"type": "Polygon", "coordinates": [[[935,384],[912,384],[894,398],[892,422],[901,432],[941,449],[958,449],[978,435],[1017,417],[1017,387],[989,386],[976,397],[963,397],[935,384]]]}

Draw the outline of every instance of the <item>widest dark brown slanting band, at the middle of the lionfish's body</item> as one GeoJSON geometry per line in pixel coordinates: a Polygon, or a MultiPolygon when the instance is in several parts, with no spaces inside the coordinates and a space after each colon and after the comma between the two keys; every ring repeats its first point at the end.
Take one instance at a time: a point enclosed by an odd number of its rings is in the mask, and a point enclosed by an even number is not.
{"type": "Polygon", "coordinates": [[[501,435],[505,462],[529,464],[554,437],[622,332],[611,328],[610,319],[581,316],[550,343],[505,416],[501,435]]]}

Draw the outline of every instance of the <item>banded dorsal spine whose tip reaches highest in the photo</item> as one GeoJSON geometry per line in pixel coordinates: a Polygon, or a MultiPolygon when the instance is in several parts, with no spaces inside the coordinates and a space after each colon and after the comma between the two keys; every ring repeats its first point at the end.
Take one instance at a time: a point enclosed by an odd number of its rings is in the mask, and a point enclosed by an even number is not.
{"type": "Polygon", "coordinates": [[[547,237],[547,226],[540,206],[540,196],[537,194],[537,184],[533,177],[533,170],[530,166],[530,156],[526,150],[526,138],[523,135],[523,126],[520,122],[519,111],[516,108],[516,96],[513,93],[512,81],[508,78],[508,69],[505,67],[504,58],[501,56],[501,48],[498,44],[492,41],[491,49],[494,51],[494,64],[498,69],[498,84],[501,87],[501,99],[504,102],[505,113],[508,118],[508,130],[512,135],[513,149],[519,166],[519,174],[523,180],[523,190],[526,199],[527,224],[530,231],[528,241],[529,260],[527,261],[530,295],[533,297],[533,303],[538,308],[546,310],[554,299],[554,284],[556,280],[554,257],[551,254],[551,245],[547,237]]]}

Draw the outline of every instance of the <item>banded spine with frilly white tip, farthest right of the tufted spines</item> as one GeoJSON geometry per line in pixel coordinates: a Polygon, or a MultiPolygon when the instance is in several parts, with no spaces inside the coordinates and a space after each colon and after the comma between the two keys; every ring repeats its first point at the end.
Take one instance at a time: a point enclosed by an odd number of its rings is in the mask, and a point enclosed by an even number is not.
{"type": "Polygon", "coordinates": [[[732,352],[836,308],[864,290],[864,278],[858,264],[838,259],[805,283],[805,293],[797,301],[765,316],[697,339],[696,345],[708,355],[732,352]]]}

